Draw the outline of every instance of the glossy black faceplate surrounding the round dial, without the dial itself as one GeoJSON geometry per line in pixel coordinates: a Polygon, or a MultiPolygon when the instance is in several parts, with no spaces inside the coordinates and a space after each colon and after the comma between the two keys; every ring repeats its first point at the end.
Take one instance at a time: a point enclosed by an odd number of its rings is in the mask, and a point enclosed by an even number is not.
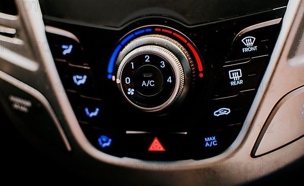
{"type": "MultiPolygon", "coordinates": [[[[285,9],[277,9],[193,28],[165,18],[147,18],[119,30],[50,20],[45,23],[72,32],[80,40],[83,63],[78,61],[75,66],[70,56],[61,56],[65,59],[55,62],[81,127],[96,148],[119,157],[148,160],[203,159],[223,152],[242,127],[246,127],[242,124],[269,63],[281,22],[246,32],[240,36],[241,40],[235,40],[236,35],[249,26],[282,18],[284,12],[285,9]],[[163,29],[166,32],[161,33],[163,29]],[[109,74],[111,54],[124,38],[137,31],[149,30],[140,33],[173,37],[172,33],[177,32],[174,29],[192,41],[204,70],[199,72],[195,60],[193,88],[180,107],[168,109],[162,115],[141,112],[124,99],[112,81],[118,64],[109,74]],[[251,40],[246,40],[249,36],[251,40]],[[257,50],[242,52],[242,45],[257,50]],[[80,83],[78,86],[73,85],[75,75],[80,75],[76,81],[80,83]],[[84,75],[88,81],[81,83],[84,75]],[[156,138],[162,146],[157,144],[156,152],[149,151],[156,138]]],[[[60,39],[61,36],[47,36],[52,52],[57,45],[69,44],[60,39]]],[[[190,55],[196,59],[194,54],[190,55]]],[[[55,52],[53,56],[59,57],[55,52]]]]}

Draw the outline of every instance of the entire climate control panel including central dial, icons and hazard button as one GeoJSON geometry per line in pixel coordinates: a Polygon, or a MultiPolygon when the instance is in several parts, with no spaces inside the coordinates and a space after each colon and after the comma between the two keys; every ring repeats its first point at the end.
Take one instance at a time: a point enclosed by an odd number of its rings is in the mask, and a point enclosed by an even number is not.
{"type": "Polygon", "coordinates": [[[100,151],[204,159],[242,128],[285,9],[204,25],[149,17],[110,29],[45,20],[64,90],[100,151]]]}

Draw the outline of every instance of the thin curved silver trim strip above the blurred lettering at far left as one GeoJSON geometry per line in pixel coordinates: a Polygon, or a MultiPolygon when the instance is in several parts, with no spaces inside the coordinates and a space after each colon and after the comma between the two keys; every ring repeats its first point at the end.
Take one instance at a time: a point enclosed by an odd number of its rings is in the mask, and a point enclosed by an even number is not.
{"type": "MultiPolygon", "coordinates": [[[[34,88],[30,87],[29,85],[15,79],[14,77],[0,71],[0,79],[6,81],[7,83],[17,87],[18,89],[20,89],[20,87],[18,87],[18,85],[22,85],[23,88],[26,89],[26,93],[30,94],[31,96],[33,96],[34,98],[36,98],[37,100],[39,100],[43,105],[44,107],[47,109],[47,111],[49,112],[51,118],[53,119],[54,123],[55,123],[55,126],[62,138],[62,141],[67,149],[67,151],[71,151],[71,146],[65,136],[65,133],[61,127],[61,125],[59,124],[59,121],[53,111],[53,109],[51,108],[51,105],[50,103],[47,101],[47,99],[37,90],[35,90],[34,88]],[[22,84],[21,84],[22,83],[22,84]],[[25,85],[25,87],[24,87],[25,85]]],[[[22,89],[21,89],[22,90],[22,89]]]]}

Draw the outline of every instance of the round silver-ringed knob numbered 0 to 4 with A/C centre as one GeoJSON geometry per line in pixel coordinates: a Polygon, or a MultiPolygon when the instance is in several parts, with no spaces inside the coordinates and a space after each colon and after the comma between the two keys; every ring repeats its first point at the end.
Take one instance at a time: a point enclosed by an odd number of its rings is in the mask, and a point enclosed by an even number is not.
{"type": "Polygon", "coordinates": [[[118,87],[136,108],[163,110],[182,101],[188,91],[189,60],[185,48],[167,36],[139,37],[118,56],[118,87]]]}

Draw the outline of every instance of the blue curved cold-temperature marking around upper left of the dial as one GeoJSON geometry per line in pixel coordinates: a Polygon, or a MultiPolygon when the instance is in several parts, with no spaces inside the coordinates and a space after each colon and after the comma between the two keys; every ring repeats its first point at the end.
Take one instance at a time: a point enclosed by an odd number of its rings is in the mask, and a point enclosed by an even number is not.
{"type": "Polygon", "coordinates": [[[117,58],[118,53],[120,52],[120,50],[122,49],[122,47],[128,42],[130,41],[133,37],[135,37],[136,35],[142,34],[144,32],[151,32],[152,29],[147,28],[147,29],[142,29],[142,30],[138,30],[134,33],[129,34],[127,37],[125,37],[121,43],[115,48],[115,50],[113,51],[110,60],[109,60],[109,64],[108,64],[108,68],[107,68],[107,78],[108,79],[112,79],[112,73],[114,70],[114,65],[115,65],[115,60],[117,58]]]}

